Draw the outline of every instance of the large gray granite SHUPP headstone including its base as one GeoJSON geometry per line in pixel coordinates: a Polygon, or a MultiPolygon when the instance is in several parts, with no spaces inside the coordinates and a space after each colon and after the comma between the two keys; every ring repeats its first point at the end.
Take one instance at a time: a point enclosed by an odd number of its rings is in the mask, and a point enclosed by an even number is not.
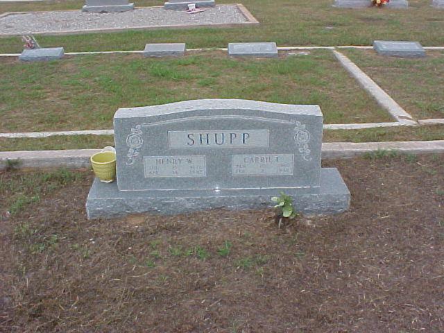
{"type": "Polygon", "coordinates": [[[89,219],[272,205],[280,191],[299,211],[348,209],[336,169],[321,169],[318,105],[205,99],[114,114],[117,182],[94,180],[89,219]]]}

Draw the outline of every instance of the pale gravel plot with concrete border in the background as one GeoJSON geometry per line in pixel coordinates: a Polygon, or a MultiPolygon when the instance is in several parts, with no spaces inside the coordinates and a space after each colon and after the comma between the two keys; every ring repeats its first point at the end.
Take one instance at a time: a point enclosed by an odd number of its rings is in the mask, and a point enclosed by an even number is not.
{"type": "Polygon", "coordinates": [[[248,19],[237,5],[220,5],[204,12],[165,10],[159,7],[137,8],[128,12],[53,11],[27,12],[0,18],[0,35],[26,33],[75,33],[103,29],[155,28],[164,26],[199,26],[246,24],[248,19]]]}

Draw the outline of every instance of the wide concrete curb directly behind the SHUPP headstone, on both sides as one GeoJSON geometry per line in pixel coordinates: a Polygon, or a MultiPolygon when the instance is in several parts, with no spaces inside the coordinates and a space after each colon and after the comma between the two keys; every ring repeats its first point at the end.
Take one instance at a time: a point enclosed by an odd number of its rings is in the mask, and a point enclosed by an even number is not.
{"type": "MultiPolygon", "coordinates": [[[[322,158],[351,158],[378,150],[395,150],[402,153],[444,154],[444,140],[413,142],[325,142],[322,144],[322,158]]],[[[89,157],[101,149],[78,149],[66,151],[3,151],[0,152],[0,170],[8,167],[8,160],[19,160],[19,168],[68,169],[90,168],[89,157]]]]}

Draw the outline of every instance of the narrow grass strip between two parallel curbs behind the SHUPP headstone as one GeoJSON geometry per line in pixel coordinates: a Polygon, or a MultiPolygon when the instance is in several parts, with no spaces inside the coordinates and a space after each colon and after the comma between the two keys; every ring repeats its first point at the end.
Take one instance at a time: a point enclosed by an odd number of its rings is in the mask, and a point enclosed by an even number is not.
{"type": "MultiPolygon", "coordinates": [[[[428,141],[444,139],[444,125],[365,130],[324,130],[323,142],[428,141]]],[[[74,135],[44,139],[0,138],[0,151],[86,149],[114,146],[112,135],[74,135]]]]}

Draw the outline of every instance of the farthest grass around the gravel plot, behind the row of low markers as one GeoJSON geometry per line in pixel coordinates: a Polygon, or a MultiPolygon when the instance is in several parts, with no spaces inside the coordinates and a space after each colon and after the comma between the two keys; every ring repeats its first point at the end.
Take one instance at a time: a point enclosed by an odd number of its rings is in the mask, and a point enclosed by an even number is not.
{"type": "MultiPolygon", "coordinates": [[[[234,1],[218,0],[218,3],[234,1]]],[[[442,10],[431,0],[410,0],[408,10],[332,8],[333,0],[244,0],[259,26],[190,28],[186,30],[126,31],[85,35],[42,36],[42,46],[65,46],[66,51],[142,50],[147,42],[186,42],[189,48],[226,47],[228,42],[277,42],[278,45],[370,45],[373,40],[417,40],[443,46],[442,10]]],[[[162,6],[163,0],[139,0],[137,6],[162,6]]],[[[1,12],[80,10],[84,1],[0,3],[1,12]]],[[[0,39],[0,52],[21,52],[18,37],[0,39]]]]}

